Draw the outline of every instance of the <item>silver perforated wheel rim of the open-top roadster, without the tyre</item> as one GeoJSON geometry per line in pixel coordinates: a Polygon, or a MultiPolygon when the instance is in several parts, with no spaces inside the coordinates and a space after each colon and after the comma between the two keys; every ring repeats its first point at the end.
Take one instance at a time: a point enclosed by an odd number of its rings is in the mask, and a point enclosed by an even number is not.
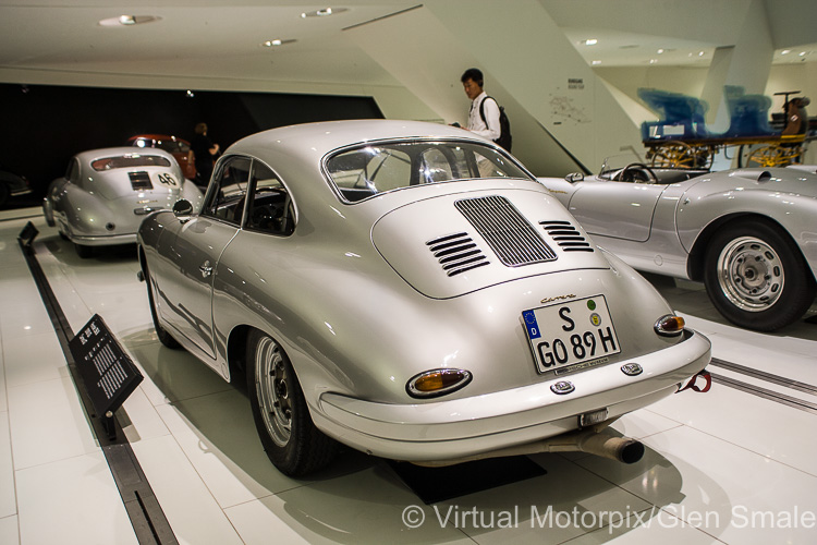
{"type": "Polygon", "coordinates": [[[739,308],[760,312],[777,303],[785,275],[777,252],[760,239],[741,237],[718,256],[718,282],[739,308]]]}

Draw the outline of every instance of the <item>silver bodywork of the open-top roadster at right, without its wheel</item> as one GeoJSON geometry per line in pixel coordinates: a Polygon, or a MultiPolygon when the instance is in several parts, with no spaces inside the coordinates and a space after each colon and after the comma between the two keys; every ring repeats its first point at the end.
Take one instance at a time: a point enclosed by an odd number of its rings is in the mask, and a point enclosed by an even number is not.
{"type": "Polygon", "coordinates": [[[636,269],[690,279],[688,258],[696,244],[705,243],[702,233],[724,220],[763,216],[791,235],[817,278],[815,173],[737,169],[702,172],[676,183],[633,183],[598,175],[576,182],[539,181],[599,245],[636,269]]]}

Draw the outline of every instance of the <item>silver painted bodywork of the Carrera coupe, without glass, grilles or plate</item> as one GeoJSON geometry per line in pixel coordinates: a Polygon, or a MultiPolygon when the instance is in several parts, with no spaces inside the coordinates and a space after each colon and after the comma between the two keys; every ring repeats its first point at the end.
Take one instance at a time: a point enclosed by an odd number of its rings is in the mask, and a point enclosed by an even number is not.
{"type": "Polygon", "coordinates": [[[586,238],[533,177],[428,183],[345,202],[327,159],[385,140],[496,148],[460,129],[400,121],[297,125],[235,143],[214,182],[231,157],[265,165],[291,194],[294,231],[150,215],[138,238],[161,325],[228,379],[230,358],[244,348],[236,332],[265,331],[289,355],[318,428],[401,460],[459,458],[576,429],[578,414],[607,408],[614,417],[645,407],[706,366],[702,335],[656,335],[656,320],[672,311],[638,274],[593,244],[569,252],[546,232],[539,221],[564,221],[586,238]],[[456,208],[486,197],[511,203],[556,258],[501,263],[456,208]],[[428,242],[460,232],[490,263],[448,276],[428,242]],[[523,311],[598,295],[621,352],[573,373],[537,372],[523,311]],[[625,363],[645,372],[627,376],[625,363]],[[435,368],[464,368],[473,380],[440,398],[410,397],[407,380],[435,368]],[[565,379],[574,391],[553,393],[565,379]]]}

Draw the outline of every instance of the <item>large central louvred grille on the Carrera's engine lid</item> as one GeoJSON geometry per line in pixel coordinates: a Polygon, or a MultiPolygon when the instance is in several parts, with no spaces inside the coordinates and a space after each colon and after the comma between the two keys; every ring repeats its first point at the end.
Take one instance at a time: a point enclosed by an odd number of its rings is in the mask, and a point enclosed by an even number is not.
{"type": "Polygon", "coordinates": [[[465,198],[454,206],[508,267],[551,262],[556,253],[520,211],[501,196],[465,198]]]}

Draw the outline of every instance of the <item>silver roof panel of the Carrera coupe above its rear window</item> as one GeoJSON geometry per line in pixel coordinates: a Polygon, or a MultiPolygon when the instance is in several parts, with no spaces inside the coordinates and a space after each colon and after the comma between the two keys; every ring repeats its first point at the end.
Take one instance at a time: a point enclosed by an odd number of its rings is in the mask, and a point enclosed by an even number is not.
{"type": "Polygon", "coordinates": [[[271,129],[240,140],[225,154],[278,152],[301,159],[319,160],[340,147],[391,138],[455,138],[490,143],[474,133],[441,123],[366,119],[271,129]]]}

